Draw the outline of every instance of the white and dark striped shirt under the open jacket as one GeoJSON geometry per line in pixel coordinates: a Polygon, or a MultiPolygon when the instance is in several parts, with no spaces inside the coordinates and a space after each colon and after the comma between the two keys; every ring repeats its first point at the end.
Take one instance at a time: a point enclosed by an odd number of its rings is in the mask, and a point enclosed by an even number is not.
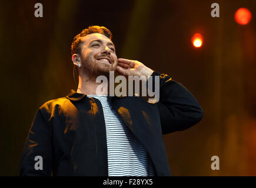
{"type": "Polygon", "coordinates": [[[107,136],[108,176],[155,176],[154,164],[145,147],[131,132],[107,96],[87,95],[101,102],[107,136]]]}

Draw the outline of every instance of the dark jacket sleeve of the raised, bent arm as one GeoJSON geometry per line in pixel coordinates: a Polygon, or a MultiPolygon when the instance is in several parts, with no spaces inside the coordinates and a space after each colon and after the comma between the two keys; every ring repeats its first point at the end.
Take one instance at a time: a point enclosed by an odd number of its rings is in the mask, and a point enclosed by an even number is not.
{"type": "Polygon", "coordinates": [[[200,122],[204,112],[188,89],[163,73],[154,71],[152,76],[160,76],[157,105],[163,135],[188,129],[200,122]]]}

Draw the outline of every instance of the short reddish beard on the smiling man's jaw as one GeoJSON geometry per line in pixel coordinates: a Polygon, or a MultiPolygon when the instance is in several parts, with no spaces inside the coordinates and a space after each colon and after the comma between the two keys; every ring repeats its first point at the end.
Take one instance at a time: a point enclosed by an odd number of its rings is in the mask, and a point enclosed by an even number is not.
{"type": "Polygon", "coordinates": [[[115,63],[99,62],[94,56],[88,56],[82,59],[83,72],[91,79],[96,79],[98,76],[106,76],[109,79],[109,71],[115,70],[115,63]]]}

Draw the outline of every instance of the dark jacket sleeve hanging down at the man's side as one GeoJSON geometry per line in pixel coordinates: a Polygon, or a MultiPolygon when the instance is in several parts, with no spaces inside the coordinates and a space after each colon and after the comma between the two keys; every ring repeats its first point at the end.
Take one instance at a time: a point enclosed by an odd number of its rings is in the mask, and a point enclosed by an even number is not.
{"type": "Polygon", "coordinates": [[[20,176],[51,176],[51,130],[39,108],[26,137],[19,164],[20,176]],[[36,157],[39,156],[39,157],[36,157]]]}

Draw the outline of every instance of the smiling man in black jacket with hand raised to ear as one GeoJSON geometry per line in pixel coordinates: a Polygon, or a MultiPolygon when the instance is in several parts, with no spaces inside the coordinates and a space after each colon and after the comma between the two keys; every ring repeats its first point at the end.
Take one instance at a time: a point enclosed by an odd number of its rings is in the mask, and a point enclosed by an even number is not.
{"type": "MultiPolygon", "coordinates": [[[[21,176],[170,176],[162,134],[202,119],[191,93],[168,75],[138,61],[118,59],[112,34],[90,26],[75,36],[72,61],[77,92],[42,105],[21,157],[21,176]],[[97,95],[98,76],[160,76],[157,103],[138,96],[97,95]]],[[[103,88],[108,88],[105,84],[103,88]]]]}

